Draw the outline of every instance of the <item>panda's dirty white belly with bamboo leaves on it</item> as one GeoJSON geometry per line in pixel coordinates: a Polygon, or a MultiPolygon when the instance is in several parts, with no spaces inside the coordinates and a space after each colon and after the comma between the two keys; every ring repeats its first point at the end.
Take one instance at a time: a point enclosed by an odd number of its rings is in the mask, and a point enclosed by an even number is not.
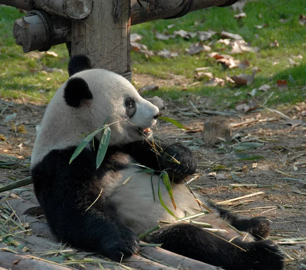
{"type": "Polygon", "coordinates": [[[158,182],[160,181],[161,197],[171,212],[179,218],[198,213],[197,202],[184,184],[173,185],[173,197],[177,208],[174,209],[163,180],[156,175],[152,176],[155,200],[152,191],[151,175],[139,174],[135,171],[139,167],[129,167],[121,171],[121,179],[110,195],[110,202],[116,206],[117,214],[123,222],[131,227],[136,234],[158,225],[158,220],[173,221],[175,218],[160,204],[158,182]],[[122,183],[132,177],[125,185],[122,183]]]}

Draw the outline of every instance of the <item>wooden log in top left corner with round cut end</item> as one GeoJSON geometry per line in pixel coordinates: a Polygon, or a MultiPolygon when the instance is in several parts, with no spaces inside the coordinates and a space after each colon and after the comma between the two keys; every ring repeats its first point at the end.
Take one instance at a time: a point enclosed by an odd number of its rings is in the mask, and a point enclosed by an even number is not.
{"type": "Polygon", "coordinates": [[[42,9],[70,19],[84,19],[92,11],[92,0],[0,0],[0,4],[25,10],[42,9]]]}

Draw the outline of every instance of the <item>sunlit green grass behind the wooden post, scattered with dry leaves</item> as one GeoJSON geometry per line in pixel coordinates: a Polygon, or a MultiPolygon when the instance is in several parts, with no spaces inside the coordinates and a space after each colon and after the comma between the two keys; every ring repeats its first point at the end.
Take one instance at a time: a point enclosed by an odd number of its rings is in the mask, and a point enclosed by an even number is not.
{"type": "MultiPolygon", "coordinates": [[[[280,104],[290,105],[305,100],[305,91],[302,86],[306,85],[306,26],[298,23],[298,16],[304,10],[304,0],[295,1],[273,1],[248,2],[243,11],[246,18],[238,24],[234,18],[234,12],[229,8],[210,8],[199,10],[187,14],[186,16],[172,20],[157,20],[133,26],[131,32],[143,36],[140,41],[147,45],[149,50],[158,51],[166,48],[169,51],[179,52],[179,56],[173,59],[164,59],[159,56],[145,58],[143,54],[132,52],[131,59],[134,72],[143,73],[157,78],[167,78],[164,72],[175,75],[183,75],[187,78],[194,77],[194,69],[197,67],[210,67],[210,72],[214,76],[224,78],[228,75],[238,75],[241,69],[224,69],[214,59],[210,59],[207,53],[189,56],[185,53],[185,48],[191,43],[197,42],[197,37],[184,40],[176,37],[167,41],[155,38],[154,30],[160,33],[173,33],[175,30],[186,30],[190,32],[213,30],[216,32],[227,31],[240,34],[252,46],[260,48],[259,53],[245,53],[243,55],[233,55],[241,61],[245,58],[249,60],[251,66],[246,69],[247,74],[251,74],[251,67],[257,66],[261,72],[257,73],[254,82],[248,86],[236,86],[226,83],[223,87],[206,87],[204,81],[196,87],[182,91],[181,87],[162,87],[158,91],[148,93],[148,95],[159,95],[164,99],[179,99],[187,94],[209,95],[218,106],[234,107],[234,104],[247,97],[247,94],[262,84],[269,84],[272,88],[267,92],[258,92],[258,99],[264,101],[274,94],[268,101],[268,106],[280,104]],[[280,19],[287,19],[282,23],[280,19]],[[199,24],[195,25],[195,21],[199,24]],[[171,29],[167,29],[169,24],[175,24],[171,29]],[[256,29],[256,25],[267,24],[268,27],[256,29]],[[276,39],[279,46],[270,47],[269,42],[276,39]],[[289,64],[289,57],[301,55],[303,59],[295,59],[299,65],[289,64]],[[277,62],[277,64],[273,64],[277,62]],[[294,78],[294,82],[289,78],[294,78]],[[289,88],[280,90],[273,87],[277,80],[288,81],[289,88]],[[242,93],[238,96],[234,94],[238,91],[242,93]]],[[[33,96],[35,99],[48,101],[56,89],[68,78],[66,66],[68,53],[64,44],[54,46],[51,51],[56,52],[59,57],[43,55],[41,59],[31,59],[25,57],[21,47],[14,42],[12,26],[16,18],[21,17],[17,9],[0,7],[0,97],[15,98],[20,97],[18,92],[33,96]],[[64,70],[60,72],[45,72],[43,67],[57,67],[64,70]],[[42,90],[42,91],[39,91],[42,90]],[[17,91],[17,92],[16,92],[17,91]]],[[[220,36],[214,36],[214,40],[220,36]]],[[[208,44],[211,40],[205,41],[208,44]]],[[[212,52],[230,54],[227,46],[213,45],[212,52]]]]}

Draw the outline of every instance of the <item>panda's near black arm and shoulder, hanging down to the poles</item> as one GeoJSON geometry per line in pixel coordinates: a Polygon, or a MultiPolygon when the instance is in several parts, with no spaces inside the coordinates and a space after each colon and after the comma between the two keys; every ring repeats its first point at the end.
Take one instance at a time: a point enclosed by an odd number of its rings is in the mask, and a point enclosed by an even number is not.
{"type": "Polygon", "coordinates": [[[35,194],[50,228],[73,246],[113,260],[132,255],[138,249],[138,237],[107,200],[116,168],[96,169],[89,149],[69,165],[74,150],[53,150],[31,169],[35,194]]]}

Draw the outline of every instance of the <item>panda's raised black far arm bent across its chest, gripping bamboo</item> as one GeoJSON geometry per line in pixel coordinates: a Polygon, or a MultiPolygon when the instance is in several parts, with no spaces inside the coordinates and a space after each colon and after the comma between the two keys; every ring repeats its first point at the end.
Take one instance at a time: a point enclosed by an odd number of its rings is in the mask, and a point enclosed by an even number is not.
{"type": "Polygon", "coordinates": [[[173,177],[176,181],[195,173],[197,164],[189,148],[182,144],[162,144],[161,147],[156,146],[157,154],[151,143],[145,140],[128,143],[123,146],[123,152],[132,156],[136,162],[157,170],[157,174],[158,171],[166,170],[170,179],[173,177]]]}

